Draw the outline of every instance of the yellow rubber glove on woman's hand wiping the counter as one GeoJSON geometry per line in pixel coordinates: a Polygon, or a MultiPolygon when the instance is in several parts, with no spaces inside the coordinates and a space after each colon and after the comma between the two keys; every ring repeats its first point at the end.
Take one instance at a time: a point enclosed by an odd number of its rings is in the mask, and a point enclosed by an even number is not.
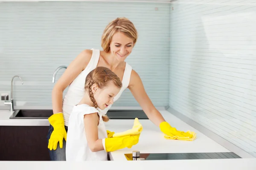
{"type": "Polygon", "coordinates": [[[189,137],[189,138],[193,137],[193,135],[188,132],[176,130],[176,128],[172,127],[168,122],[160,123],[160,130],[167,136],[179,136],[179,137],[189,137]]]}

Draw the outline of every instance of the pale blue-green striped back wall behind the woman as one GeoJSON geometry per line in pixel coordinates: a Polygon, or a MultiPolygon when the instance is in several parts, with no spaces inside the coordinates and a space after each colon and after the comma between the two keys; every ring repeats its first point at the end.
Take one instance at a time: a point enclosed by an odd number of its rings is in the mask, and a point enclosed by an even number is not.
{"type": "MultiPolygon", "coordinates": [[[[126,61],[140,74],[154,105],[167,106],[170,16],[163,3],[0,3],[0,91],[10,91],[12,77],[19,75],[24,84],[15,79],[15,101],[51,106],[54,70],[84,49],[102,49],[102,32],[116,17],[128,17],[139,32],[126,61]]],[[[114,105],[139,106],[128,89],[114,105]]]]}

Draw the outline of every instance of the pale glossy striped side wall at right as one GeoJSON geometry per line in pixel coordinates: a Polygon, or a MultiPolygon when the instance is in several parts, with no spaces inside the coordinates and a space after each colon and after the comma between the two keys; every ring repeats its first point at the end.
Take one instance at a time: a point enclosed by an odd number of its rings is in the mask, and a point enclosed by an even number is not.
{"type": "Polygon", "coordinates": [[[169,106],[256,156],[256,1],[170,7],[169,106]]]}

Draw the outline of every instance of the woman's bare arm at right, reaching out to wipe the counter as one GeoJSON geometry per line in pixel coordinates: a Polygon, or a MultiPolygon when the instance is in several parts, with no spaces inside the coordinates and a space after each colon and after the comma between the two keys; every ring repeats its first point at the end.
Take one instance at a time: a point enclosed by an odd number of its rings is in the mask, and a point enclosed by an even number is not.
{"type": "Polygon", "coordinates": [[[161,122],[165,122],[165,119],[163,119],[161,113],[154,107],[153,103],[145,92],[140,76],[134,70],[131,71],[131,78],[128,88],[151,122],[153,122],[158,127],[161,122]]]}

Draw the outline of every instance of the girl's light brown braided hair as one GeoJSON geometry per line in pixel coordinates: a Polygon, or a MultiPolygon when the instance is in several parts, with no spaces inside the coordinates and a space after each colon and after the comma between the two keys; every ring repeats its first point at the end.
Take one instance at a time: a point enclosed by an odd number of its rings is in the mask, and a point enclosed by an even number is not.
{"type": "MultiPolygon", "coordinates": [[[[93,102],[93,105],[96,109],[98,109],[98,105],[96,100],[93,97],[92,85],[96,84],[99,88],[104,88],[107,86],[108,82],[112,81],[117,88],[122,88],[122,81],[117,77],[116,74],[113,73],[108,68],[105,67],[96,67],[87,75],[85,79],[84,88],[88,91],[90,100],[93,102]]],[[[108,122],[108,116],[102,116],[104,122],[108,122]]]]}

